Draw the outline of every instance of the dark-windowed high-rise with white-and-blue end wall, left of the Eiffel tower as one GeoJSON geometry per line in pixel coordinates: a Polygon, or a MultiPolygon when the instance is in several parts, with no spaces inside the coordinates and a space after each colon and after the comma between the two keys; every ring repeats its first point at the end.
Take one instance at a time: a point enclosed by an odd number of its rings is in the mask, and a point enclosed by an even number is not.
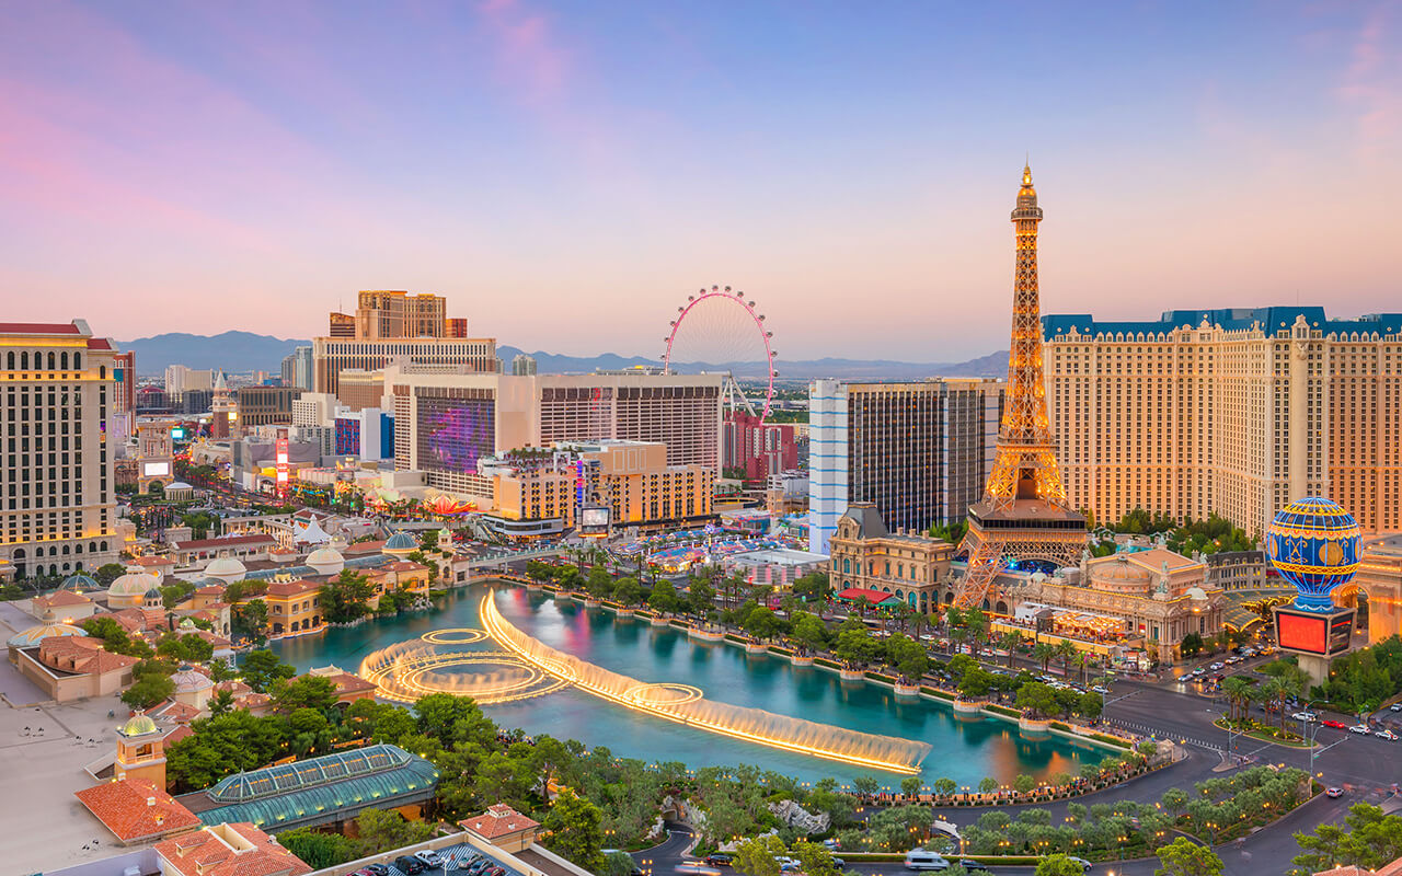
{"type": "Polygon", "coordinates": [[[986,378],[809,385],[809,549],[871,502],[896,530],[963,520],[983,493],[1004,384],[986,378]]]}

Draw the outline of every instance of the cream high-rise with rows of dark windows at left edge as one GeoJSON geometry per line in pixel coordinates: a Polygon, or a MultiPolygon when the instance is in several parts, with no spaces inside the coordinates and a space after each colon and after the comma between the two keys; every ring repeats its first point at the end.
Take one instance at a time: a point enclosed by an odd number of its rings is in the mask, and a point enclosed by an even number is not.
{"type": "Polygon", "coordinates": [[[114,442],[116,350],[83,320],[0,324],[0,572],[97,569],[122,549],[114,442]],[[6,568],[7,566],[7,568],[6,568]]]}

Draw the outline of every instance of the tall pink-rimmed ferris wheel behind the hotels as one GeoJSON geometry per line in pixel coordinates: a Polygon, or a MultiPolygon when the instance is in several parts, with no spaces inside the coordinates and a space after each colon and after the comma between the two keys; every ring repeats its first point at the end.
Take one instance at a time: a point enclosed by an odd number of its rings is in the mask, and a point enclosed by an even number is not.
{"type": "Polygon", "coordinates": [[[725,405],[768,419],[774,402],[774,332],[743,292],[701,287],[677,307],[662,356],[667,374],[725,374],[725,405]]]}

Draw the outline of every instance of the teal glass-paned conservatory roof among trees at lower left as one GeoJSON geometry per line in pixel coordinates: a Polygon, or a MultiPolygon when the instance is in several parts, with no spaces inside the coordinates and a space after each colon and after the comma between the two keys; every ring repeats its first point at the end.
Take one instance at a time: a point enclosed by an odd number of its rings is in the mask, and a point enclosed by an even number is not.
{"type": "Polygon", "coordinates": [[[437,767],[429,761],[379,744],[238,772],[179,802],[205,824],[251,821],[264,830],[287,830],[343,821],[372,806],[426,800],[437,782],[437,767]]]}

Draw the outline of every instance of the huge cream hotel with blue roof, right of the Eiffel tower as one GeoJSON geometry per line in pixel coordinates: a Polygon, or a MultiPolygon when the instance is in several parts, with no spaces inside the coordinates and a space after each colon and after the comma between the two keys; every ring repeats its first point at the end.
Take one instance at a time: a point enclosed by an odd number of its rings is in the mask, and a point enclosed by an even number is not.
{"type": "Polygon", "coordinates": [[[1259,535],[1332,496],[1364,531],[1402,528],[1402,314],[1049,315],[1043,339],[1070,502],[1098,520],[1216,513],[1259,535]]]}

